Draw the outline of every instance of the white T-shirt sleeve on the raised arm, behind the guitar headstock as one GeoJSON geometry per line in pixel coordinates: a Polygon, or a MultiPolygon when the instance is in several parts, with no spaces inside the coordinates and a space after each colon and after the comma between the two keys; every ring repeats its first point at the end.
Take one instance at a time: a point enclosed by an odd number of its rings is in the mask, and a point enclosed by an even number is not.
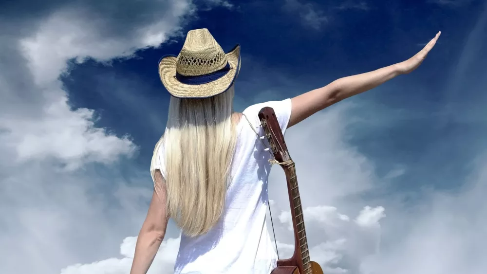
{"type": "Polygon", "coordinates": [[[254,125],[259,125],[259,111],[262,108],[270,107],[276,113],[279,126],[281,127],[282,134],[285,133],[289,119],[291,118],[291,99],[285,99],[281,101],[268,101],[252,105],[244,110],[244,114],[252,121],[254,125]]]}

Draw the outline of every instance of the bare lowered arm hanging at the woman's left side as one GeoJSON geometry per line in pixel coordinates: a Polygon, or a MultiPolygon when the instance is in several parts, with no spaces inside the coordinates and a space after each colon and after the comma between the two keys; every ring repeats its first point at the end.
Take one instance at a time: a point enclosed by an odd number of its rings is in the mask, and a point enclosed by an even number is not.
{"type": "Polygon", "coordinates": [[[161,245],[169,217],[166,214],[166,188],[164,179],[159,170],[155,172],[157,193],[154,188],[152,200],[150,201],[147,217],[142,224],[137,243],[135,245],[135,255],[133,256],[130,274],[146,274],[152,261],[161,245]]]}

